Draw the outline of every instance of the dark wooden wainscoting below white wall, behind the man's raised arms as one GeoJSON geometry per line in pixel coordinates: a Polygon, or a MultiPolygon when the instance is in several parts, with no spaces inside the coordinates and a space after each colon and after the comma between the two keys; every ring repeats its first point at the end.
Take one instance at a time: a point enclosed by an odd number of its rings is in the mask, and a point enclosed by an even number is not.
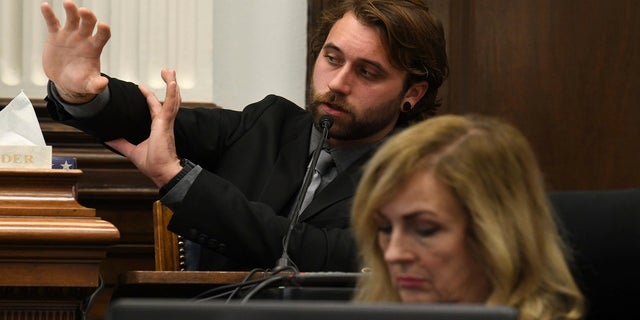
{"type": "MultiPolygon", "coordinates": [[[[0,99],[0,109],[9,103],[0,99]]],[[[100,320],[111,300],[118,275],[131,270],[154,270],[152,208],[158,188],[124,157],[93,137],[54,122],[43,100],[32,99],[45,141],[53,154],[75,157],[82,175],[77,177],[78,203],[95,209],[95,215],[112,223],[120,240],[106,252],[100,264],[104,288],[95,297],[87,318],[100,320]]],[[[209,103],[185,103],[184,107],[209,107],[209,103]]]]}

